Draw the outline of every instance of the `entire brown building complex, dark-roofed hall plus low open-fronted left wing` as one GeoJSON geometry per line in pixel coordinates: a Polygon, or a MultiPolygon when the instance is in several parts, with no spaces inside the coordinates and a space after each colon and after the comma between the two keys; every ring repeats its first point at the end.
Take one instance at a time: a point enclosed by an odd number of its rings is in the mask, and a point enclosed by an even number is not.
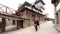
{"type": "Polygon", "coordinates": [[[14,26],[16,29],[32,26],[34,25],[34,17],[42,23],[45,17],[42,12],[43,11],[41,11],[41,9],[38,9],[34,5],[25,2],[18,8],[16,14],[8,15],[0,13],[0,29],[4,32],[6,29],[9,29],[9,26],[14,26]]]}

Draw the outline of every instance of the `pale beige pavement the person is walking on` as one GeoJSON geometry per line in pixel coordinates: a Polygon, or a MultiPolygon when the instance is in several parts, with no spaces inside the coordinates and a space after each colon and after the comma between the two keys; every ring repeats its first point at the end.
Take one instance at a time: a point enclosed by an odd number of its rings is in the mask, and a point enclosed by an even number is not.
{"type": "Polygon", "coordinates": [[[52,24],[51,21],[47,21],[40,25],[40,28],[38,29],[37,32],[35,32],[33,26],[30,26],[17,31],[4,32],[1,34],[60,34],[60,33],[54,28],[54,24],[52,24]]]}

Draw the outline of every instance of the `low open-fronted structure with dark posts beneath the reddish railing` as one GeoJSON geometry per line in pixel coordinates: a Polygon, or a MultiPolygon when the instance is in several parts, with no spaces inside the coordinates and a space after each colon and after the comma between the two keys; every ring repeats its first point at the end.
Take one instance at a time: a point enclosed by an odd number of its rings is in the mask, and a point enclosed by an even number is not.
{"type": "Polygon", "coordinates": [[[16,15],[6,15],[0,13],[0,31],[4,32],[8,30],[10,27],[14,27],[14,29],[23,28],[23,21],[22,20],[29,20],[25,18],[20,18],[16,15]]]}

